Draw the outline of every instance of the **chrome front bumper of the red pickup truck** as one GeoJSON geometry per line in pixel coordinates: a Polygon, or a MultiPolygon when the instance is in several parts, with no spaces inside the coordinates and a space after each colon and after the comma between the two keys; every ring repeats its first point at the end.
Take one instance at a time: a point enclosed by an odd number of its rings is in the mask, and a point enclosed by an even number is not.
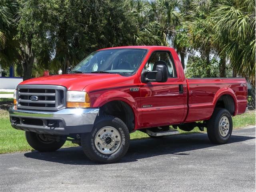
{"type": "Polygon", "coordinates": [[[64,108],[59,111],[9,109],[13,128],[44,134],[69,135],[92,130],[99,108],[64,108]],[[51,124],[53,124],[50,126],[51,124]]]}

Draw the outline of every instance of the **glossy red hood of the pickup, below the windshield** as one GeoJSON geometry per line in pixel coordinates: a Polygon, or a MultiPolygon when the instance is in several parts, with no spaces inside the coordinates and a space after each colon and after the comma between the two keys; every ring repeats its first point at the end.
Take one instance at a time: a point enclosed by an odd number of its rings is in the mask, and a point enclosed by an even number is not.
{"type": "Polygon", "coordinates": [[[82,91],[89,84],[96,82],[124,78],[119,74],[63,74],[53,76],[43,76],[23,81],[21,84],[45,84],[60,85],[68,90],[82,91]]]}

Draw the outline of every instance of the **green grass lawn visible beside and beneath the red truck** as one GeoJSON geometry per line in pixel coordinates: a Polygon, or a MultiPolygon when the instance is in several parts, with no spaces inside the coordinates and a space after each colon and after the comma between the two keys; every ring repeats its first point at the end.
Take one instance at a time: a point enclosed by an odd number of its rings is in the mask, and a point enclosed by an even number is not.
{"type": "MultiPolygon", "coordinates": [[[[250,111],[233,118],[234,128],[244,128],[247,126],[255,126],[255,111],[250,111]]],[[[201,132],[198,128],[194,128],[191,132],[179,130],[182,134],[191,134],[201,132]]],[[[131,139],[148,138],[149,136],[143,132],[136,131],[130,134],[131,139]]],[[[63,147],[77,146],[67,141],[63,147]]],[[[16,130],[11,127],[8,112],[0,110],[0,154],[18,151],[33,150],[26,142],[24,131],[16,130]]]]}

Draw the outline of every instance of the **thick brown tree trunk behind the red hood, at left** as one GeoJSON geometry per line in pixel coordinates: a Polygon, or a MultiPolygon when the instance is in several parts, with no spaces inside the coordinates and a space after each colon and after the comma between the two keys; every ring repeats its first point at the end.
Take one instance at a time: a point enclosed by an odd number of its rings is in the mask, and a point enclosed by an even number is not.
{"type": "Polygon", "coordinates": [[[32,50],[31,42],[20,44],[20,53],[23,67],[23,80],[27,80],[32,76],[32,67],[35,59],[35,54],[32,50]]]}

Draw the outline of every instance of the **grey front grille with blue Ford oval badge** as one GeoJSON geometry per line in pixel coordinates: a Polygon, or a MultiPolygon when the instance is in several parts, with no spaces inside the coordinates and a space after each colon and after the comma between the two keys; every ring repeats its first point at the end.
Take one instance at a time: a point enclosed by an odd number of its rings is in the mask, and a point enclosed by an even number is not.
{"type": "Polygon", "coordinates": [[[66,106],[66,88],[55,85],[19,85],[17,108],[60,110],[66,106]]]}

